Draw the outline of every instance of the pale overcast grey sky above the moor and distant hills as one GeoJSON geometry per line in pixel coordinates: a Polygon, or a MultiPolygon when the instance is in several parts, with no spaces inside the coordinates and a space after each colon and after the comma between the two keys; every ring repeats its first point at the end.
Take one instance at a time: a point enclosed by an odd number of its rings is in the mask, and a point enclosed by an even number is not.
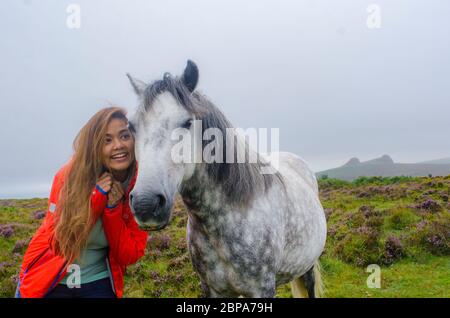
{"type": "Polygon", "coordinates": [[[446,0],[2,0],[0,198],[47,197],[97,110],[133,113],[126,72],[152,81],[188,58],[235,126],[280,128],[315,171],[448,157],[449,17],[446,0]]]}

